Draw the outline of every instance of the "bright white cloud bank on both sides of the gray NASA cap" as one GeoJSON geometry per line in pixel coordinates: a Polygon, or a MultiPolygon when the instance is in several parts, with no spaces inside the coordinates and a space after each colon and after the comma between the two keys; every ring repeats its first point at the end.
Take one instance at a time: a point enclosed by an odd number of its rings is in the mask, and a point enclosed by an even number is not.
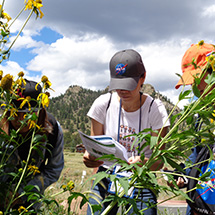
{"type": "MultiPolygon", "coordinates": [[[[178,81],[175,73],[181,73],[180,63],[190,41],[169,41],[163,44],[151,43],[145,46],[123,44],[117,47],[106,37],[86,35],[82,38],[64,37],[51,45],[34,49],[37,56],[27,69],[41,71],[53,83],[53,96],[65,92],[71,85],[80,85],[93,90],[104,89],[109,84],[109,61],[116,51],[133,48],[143,58],[147,70],[146,83],[152,84],[157,91],[172,98],[174,86],[178,81]]],[[[175,90],[176,91],[176,90],[175,90]]],[[[177,94],[177,91],[176,91],[177,94]]]]}

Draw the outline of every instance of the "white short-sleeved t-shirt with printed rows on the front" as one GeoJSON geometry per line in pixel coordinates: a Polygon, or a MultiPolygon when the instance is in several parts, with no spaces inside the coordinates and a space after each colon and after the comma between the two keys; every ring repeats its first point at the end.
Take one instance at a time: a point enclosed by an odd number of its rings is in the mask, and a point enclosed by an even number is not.
{"type": "MultiPolygon", "coordinates": [[[[163,103],[159,99],[155,99],[153,101],[153,98],[151,96],[147,94],[144,95],[146,95],[147,98],[144,104],[141,106],[141,109],[138,109],[134,112],[126,112],[123,108],[121,108],[120,114],[120,102],[118,100],[117,93],[112,93],[112,96],[110,96],[110,93],[103,94],[94,101],[87,114],[90,118],[104,125],[105,135],[113,137],[127,149],[128,157],[131,157],[132,151],[134,151],[135,155],[137,155],[136,147],[138,145],[135,145],[131,150],[131,145],[135,139],[135,136],[125,136],[134,133],[138,134],[140,131],[146,128],[157,130],[162,128],[164,126],[164,123],[165,126],[170,125],[169,120],[167,120],[168,114],[163,103]],[[109,107],[107,109],[108,103],[109,107]],[[141,129],[139,131],[140,116],[141,129]]],[[[143,143],[144,142],[142,142],[141,145],[143,143]]],[[[152,154],[152,151],[150,150],[149,146],[146,146],[143,151],[141,151],[141,153],[144,153],[145,157],[149,158],[152,154]]]]}

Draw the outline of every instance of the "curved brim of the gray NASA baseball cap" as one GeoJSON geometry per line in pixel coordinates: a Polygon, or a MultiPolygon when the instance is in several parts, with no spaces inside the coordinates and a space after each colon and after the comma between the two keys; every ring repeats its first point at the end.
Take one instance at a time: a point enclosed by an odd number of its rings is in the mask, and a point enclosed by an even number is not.
{"type": "Polygon", "coordinates": [[[140,77],[111,78],[109,91],[128,90],[132,91],[137,87],[140,77]]]}

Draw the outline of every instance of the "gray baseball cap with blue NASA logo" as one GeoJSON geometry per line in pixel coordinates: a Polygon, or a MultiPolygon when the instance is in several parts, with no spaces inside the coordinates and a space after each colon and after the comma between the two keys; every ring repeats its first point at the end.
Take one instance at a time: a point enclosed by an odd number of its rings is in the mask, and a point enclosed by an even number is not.
{"type": "Polygon", "coordinates": [[[133,49],[117,52],[110,60],[111,90],[134,90],[146,72],[140,54],[133,49]]]}

